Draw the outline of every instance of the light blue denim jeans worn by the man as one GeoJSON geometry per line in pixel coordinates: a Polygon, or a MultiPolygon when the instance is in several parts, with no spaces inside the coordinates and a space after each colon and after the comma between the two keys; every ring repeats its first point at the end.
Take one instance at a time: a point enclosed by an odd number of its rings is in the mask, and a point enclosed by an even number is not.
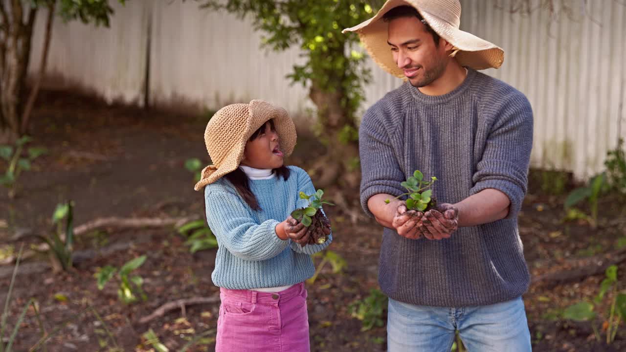
{"type": "Polygon", "coordinates": [[[521,297],[464,308],[415,306],[389,299],[388,352],[448,352],[455,330],[469,352],[531,351],[521,297]]]}

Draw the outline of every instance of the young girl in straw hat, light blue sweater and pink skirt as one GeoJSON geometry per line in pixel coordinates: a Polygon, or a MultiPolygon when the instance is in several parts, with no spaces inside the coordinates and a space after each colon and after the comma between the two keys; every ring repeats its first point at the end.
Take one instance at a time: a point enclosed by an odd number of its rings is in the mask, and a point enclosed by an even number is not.
{"type": "Polygon", "coordinates": [[[314,194],[309,175],[283,165],[295,147],[294,122],[261,100],[223,107],[205,130],[213,161],[204,187],[207,222],[217,237],[212,280],[220,287],[215,351],[309,351],[304,281],[314,274],[307,227],[290,217],[314,194]]]}

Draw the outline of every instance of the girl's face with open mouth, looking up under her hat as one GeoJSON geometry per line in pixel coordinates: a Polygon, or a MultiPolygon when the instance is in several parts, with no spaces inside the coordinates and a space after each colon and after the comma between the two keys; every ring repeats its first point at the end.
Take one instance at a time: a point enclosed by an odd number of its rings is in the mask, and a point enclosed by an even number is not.
{"type": "Polygon", "coordinates": [[[265,122],[245,143],[241,163],[254,168],[279,168],[283,165],[283,153],[279,149],[278,133],[272,120],[265,122]]]}

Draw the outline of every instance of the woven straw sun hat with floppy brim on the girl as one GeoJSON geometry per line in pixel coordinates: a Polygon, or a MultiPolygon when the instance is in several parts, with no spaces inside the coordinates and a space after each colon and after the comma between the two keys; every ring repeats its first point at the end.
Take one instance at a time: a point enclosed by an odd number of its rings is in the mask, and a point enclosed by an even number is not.
{"type": "Polygon", "coordinates": [[[284,108],[267,101],[252,100],[249,104],[231,104],[218,110],[204,132],[213,164],[202,169],[200,181],[193,189],[201,190],[239,167],[244,158],[245,143],[269,120],[274,120],[280,150],[288,157],[294,151],[296,133],[294,122],[284,108]]]}

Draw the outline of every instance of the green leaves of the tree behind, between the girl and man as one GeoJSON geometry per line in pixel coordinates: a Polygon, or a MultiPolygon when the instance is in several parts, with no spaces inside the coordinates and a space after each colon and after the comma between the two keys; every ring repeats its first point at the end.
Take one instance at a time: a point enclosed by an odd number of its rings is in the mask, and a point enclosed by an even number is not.
{"type": "MultiPolygon", "coordinates": [[[[254,28],[261,31],[265,47],[283,51],[299,46],[305,60],[294,65],[288,77],[294,83],[312,86],[327,93],[338,93],[346,113],[347,127],[354,127],[354,116],[364,101],[363,85],[371,80],[365,55],[355,49],[359,38],[342,34],[374,16],[382,0],[202,0],[203,7],[225,10],[241,18],[250,14],[254,28]],[[332,16],[329,16],[332,14],[332,16]]],[[[322,106],[318,106],[322,108],[322,106]]],[[[352,133],[347,133],[352,135],[352,133]]],[[[353,135],[352,135],[353,136],[353,135]]],[[[344,136],[345,137],[345,136],[344,136]]],[[[352,138],[352,137],[350,137],[352,138]]]]}

